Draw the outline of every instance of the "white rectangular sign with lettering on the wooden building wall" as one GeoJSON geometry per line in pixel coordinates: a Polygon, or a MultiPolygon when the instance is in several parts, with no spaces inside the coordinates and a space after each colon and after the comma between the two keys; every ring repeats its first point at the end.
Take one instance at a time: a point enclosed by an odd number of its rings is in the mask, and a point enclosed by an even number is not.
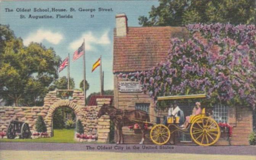
{"type": "Polygon", "coordinates": [[[142,92],[139,82],[119,82],[119,92],[142,92]]]}

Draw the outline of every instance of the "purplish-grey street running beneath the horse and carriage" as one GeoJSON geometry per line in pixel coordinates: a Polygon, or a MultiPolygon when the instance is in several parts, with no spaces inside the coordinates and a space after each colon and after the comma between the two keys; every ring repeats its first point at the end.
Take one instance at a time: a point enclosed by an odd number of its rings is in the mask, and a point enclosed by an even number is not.
{"type": "Polygon", "coordinates": [[[183,154],[221,154],[255,155],[256,146],[180,146],[180,145],[139,145],[139,144],[83,144],[83,143],[35,143],[0,142],[0,150],[40,150],[40,151],[103,151],[136,153],[183,153],[183,154]]]}

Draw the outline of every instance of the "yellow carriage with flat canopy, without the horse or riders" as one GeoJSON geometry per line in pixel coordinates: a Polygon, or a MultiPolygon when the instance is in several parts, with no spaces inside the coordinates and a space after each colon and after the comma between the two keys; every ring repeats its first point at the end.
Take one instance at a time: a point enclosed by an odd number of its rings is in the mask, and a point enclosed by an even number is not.
{"type": "MultiPolygon", "coordinates": [[[[185,96],[165,96],[158,97],[158,101],[177,100],[177,99],[193,99],[206,98],[206,94],[193,94],[185,96]]],[[[153,123],[150,130],[151,140],[158,145],[166,144],[174,132],[190,134],[192,140],[200,146],[211,146],[220,138],[220,128],[218,123],[206,113],[206,108],[202,108],[201,114],[191,115],[187,129],[181,128],[180,117],[167,117],[167,124],[153,123]]]]}

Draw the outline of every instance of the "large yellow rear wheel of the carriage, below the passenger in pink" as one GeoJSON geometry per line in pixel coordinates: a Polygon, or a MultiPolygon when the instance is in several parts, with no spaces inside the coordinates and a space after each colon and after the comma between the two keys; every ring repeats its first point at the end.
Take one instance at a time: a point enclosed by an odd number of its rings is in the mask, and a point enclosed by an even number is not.
{"type": "Polygon", "coordinates": [[[213,118],[198,117],[190,127],[190,135],[196,144],[211,146],[219,140],[221,131],[213,118]]]}

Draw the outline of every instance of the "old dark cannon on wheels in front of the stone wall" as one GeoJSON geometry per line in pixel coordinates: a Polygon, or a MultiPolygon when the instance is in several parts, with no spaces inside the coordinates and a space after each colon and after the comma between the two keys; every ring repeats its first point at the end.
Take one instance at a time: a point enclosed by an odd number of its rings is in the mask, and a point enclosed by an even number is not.
{"type": "Polygon", "coordinates": [[[30,138],[31,131],[29,129],[29,124],[18,120],[12,120],[8,126],[6,135],[8,139],[14,139],[16,134],[19,134],[19,138],[22,139],[30,138]]]}

